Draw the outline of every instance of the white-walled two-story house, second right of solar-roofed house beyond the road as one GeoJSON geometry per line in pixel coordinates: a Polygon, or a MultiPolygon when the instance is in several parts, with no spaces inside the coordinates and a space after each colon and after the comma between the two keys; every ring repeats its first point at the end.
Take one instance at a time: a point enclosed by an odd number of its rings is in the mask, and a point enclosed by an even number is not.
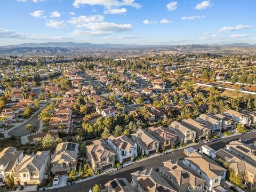
{"type": "Polygon", "coordinates": [[[120,163],[131,161],[137,157],[137,144],[132,142],[126,135],[115,137],[111,135],[108,137],[108,145],[116,153],[116,159],[120,163]]]}

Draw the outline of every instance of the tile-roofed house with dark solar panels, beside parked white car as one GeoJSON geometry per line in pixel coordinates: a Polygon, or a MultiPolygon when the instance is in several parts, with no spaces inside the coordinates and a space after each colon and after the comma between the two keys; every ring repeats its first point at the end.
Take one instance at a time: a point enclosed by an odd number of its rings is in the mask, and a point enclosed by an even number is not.
{"type": "Polygon", "coordinates": [[[61,142],[57,145],[52,156],[52,173],[67,174],[76,171],[78,143],[61,142]]]}

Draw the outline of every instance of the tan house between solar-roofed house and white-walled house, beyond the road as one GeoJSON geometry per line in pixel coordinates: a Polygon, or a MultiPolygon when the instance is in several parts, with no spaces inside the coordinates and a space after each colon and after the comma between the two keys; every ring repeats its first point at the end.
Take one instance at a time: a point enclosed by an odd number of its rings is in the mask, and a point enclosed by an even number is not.
{"type": "Polygon", "coordinates": [[[86,146],[86,157],[90,159],[94,171],[106,170],[115,166],[115,153],[103,139],[92,141],[86,146]]]}

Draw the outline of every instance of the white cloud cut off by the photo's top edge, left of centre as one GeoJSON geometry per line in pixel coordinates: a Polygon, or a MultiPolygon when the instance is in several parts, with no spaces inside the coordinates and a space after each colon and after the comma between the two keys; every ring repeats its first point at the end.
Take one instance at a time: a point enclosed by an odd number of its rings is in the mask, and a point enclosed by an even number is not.
{"type": "Polygon", "coordinates": [[[110,9],[111,7],[120,7],[120,6],[131,6],[137,9],[140,9],[141,5],[139,3],[135,3],[134,0],[75,0],[73,2],[73,6],[78,8],[81,5],[101,5],[106,9],[110,9]]]}

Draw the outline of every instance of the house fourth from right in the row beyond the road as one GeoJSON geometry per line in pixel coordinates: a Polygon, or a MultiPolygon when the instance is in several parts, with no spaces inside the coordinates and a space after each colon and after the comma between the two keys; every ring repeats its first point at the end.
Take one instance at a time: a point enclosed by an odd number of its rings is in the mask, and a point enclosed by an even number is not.
{"type": "Polygon", "coordinates": [[[211,133],[220,132],[222,130],[222,123],[221,121],[212,118],[209,115],[201,114],[196,120],[211,129],[211,133]]]}

